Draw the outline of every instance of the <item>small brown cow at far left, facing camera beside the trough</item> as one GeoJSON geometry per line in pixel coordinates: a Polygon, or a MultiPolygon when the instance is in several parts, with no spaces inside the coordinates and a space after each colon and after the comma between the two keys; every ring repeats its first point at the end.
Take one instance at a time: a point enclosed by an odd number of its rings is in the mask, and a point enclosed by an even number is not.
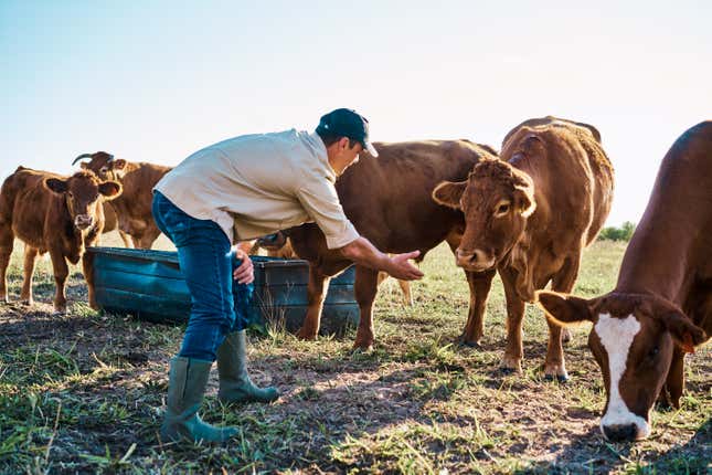
{"type": "MultiPolygon", "coordinates": [[[[7,270],[15,236],[25,243],[24,281],[20,298],[32,303],[32,274],[39,254],[50,252],[56,293],[54,309],[65,312],[66,261],[79,262],[104,228],[102,202],[121,193],[121,184],[102,181],[91,171],[62,178],[19,167],[0,190],[0,299],[8,302],[7,270]]],[[[89,305],[96,308],[93,279],[83,261],[89,305]]]]}

